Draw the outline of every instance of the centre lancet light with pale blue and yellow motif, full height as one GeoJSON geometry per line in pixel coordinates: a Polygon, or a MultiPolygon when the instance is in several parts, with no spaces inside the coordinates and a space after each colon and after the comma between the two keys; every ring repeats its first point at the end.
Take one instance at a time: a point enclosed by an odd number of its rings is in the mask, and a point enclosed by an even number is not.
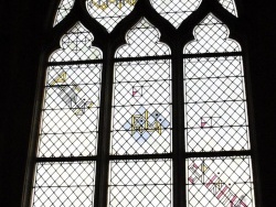
{"type": "Polygon", "coordinates": [[[153,159],[172,151],[171,51],[159,41],[141,18],[115,54],[110,154],[147,159],[109,161],[109,206],[172,206],[172,160],[153,159]]]}

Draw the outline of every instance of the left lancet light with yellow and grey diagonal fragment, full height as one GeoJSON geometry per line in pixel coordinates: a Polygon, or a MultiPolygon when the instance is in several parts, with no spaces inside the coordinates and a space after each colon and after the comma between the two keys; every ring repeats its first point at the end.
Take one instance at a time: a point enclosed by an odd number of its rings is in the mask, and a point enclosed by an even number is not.
{"type": "Polygon", "coordinates": [[[61,157],[96,155],[102,64],[77,63],[102,58],[92,41],[93,35],[77,23],[50,57],[33,206],[93,204],[95,162],[61,162],[61,157]],[[59,62],[62,65],[52,65],[59,62]]]}

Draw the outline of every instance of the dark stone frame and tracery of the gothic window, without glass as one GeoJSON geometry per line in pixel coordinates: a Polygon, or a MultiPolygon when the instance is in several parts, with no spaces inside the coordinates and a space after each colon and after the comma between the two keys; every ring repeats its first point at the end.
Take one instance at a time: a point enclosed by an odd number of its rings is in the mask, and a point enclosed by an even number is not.
{"type": "MultiPolygon", "coordinates": [[[[240,21],[243,17],[242,4],[236,2],[236,10],[238,18],[227,12],[220,3],[219,0],[202,0],[201,6],[190,17],[188,17],[176,30],[167,20],[161,18],[149,4],[149,0],[139,0],[135,10],[126,17],[121,22],[116,25],[113,32],[105,31],[98,22],[93,20],[86,11],[85,0],[75,0],[75,4],[67,17],[62,20],[55,28],[52,28],[54,22],[56,8],[60,4],[59,1],[52,3],[52,10],[49,12],[50,22],[46,25],[46,40],[44,41],[39,78],[35,95],[35,107],[33,113],[33,124],[31,142],[29,145],[29,159],[26,175],[24,179],[24,195],[23,207],[30,207],[32,203],[32,184],[34,179],[35,163],[41,162],[41,159],[36,159],[39,132],[41,122],[41,106],[43,103],[43,90],[45,83],[45,72],[49,66],[47,58],[53,51],[60,47],[60,40],[64,33],[66,33],[77,21],[79,21],[86,29],[88,29],[94,35],[93,45],[99,47],[103,52],[103,73],[102,73],[102,86],[105,89],[100,91],[100,107],[99,107],[99,124],[98,124],[98,148],[96,156],[87,157],[73,157],[74,161],[96,161],[96,183],[94,206],[106,207],[107,206],[107,189],[108,189],[108,164],[112,160],[139,160],[139,159],[172,159],[173,164],[173,206],[184,207],[185,204],[185,159],[188,157],[209,157],[209,156],[230,156],[230,155],[251,155],[253,163],[253,183],[255,194],[255,206],[261,206],[259,182],[258,182],[258,168],[257,168],[257,154],[256,154],[256,141],[254,131],[254,117],[252,106],[252,92],[251,80],[248,69],[247,57],[247,42],[246,34],[243,30],[245,22],[240,21]],[[145,6],[147,6],[145,8],[145,6]],[[248,117],[248,130],[251,150],[236,151],[236,152],[200,152],[188,153],[184,152],[184,94],[183,94],[183,58],[204,56],[202,54],[183,54],[183,47],[187,43],[194,40],[193,29],[200,23],[210,12],[212,12],[217,19],[227,25],[231,31],[230,37],[237,41],[242,47],[242,52],[238,54],[243,57],[244,80],[245,80],[245,94],[247,102],[247,117],[248,117]],[[172,72],[172,153],[168,154],[149,154],[149,155],[109,155],[109,141],[112,129],[112,99],[113,99],[113,78],[114,78],[114,65],[116,62],[115,53],[117,47],[125,44],[126,32],[139,21],[140,18],[147,18],[161,33],[160,42],[166,43],[171,48],[171,72],[172,72]],[[179,40],[177,43],[174,40],[179,40]],[[102,146],[102,148],[100,148],[102,146]]],[[[205,54],[208,56],[223,56],[224,54],[205,54]]],[[[144,59],[145,57],[134,58],[144,59]]],[[[155,57],[152,57],[155,59],[155,57]]],[[[85,61],[85,63],[93,63],[93,61],[85,61]]],[[[73,64],[73,63],[70,63],[73,64]]],[[[50,159],[51,160],[51,159],[50,159]]],[[[66,157],[55,159],[56,162],[65,161],[66,157]]],[[[73,161],[68,157],[70,161],[73,161]]]]}

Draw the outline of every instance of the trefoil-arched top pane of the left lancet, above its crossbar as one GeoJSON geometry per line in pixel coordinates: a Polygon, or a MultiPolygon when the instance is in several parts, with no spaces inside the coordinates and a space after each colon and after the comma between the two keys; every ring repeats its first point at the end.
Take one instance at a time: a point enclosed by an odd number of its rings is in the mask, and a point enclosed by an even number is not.
{"type": "Polygon", "coordinates": [[[100,59],[102,51],[92,46],[94,36],[83,26],[76,23],[61,40],[62,48],[56,50],[50,62],[88,61],[100,59]]]}

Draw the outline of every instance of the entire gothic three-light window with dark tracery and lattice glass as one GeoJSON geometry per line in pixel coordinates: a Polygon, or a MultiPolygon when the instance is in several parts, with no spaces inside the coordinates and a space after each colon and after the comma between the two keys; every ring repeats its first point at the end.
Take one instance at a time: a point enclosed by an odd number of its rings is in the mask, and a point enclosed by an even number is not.
{"type": "Polygon", "coordinates": [[[53,25],[25,207],[256,206],[234,0],[61,0],[53,25]]]}

